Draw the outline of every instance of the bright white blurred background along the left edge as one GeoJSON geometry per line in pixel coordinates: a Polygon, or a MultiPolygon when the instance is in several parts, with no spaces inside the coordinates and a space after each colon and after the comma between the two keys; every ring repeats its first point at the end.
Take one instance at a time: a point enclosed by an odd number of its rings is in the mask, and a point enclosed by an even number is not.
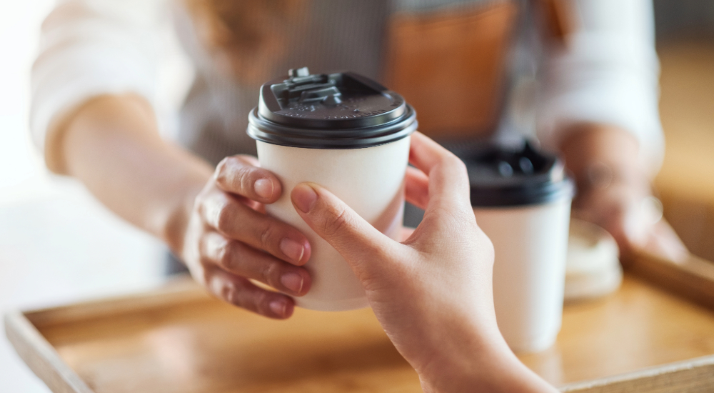
{"type": "MultiPolygon", "coordinates": [[[[154,287],[161,244],[76,181],[51,176],[28,131],[29,75],[54,0],[0,0],[0,313],[154,287]]],[[[0,392],[49,392],[0,338],[0,392]]]]}

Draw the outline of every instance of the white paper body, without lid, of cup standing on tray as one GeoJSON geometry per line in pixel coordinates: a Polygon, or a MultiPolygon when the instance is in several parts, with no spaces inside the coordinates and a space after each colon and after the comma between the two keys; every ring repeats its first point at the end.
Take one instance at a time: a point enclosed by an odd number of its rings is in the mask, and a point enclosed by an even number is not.
{"type": "Polygon", "coordinates": [[[570,197],[543,205],[473,209],[493,242],[496,321],[513,352],[540,352],[560,332],[570,197]]]}

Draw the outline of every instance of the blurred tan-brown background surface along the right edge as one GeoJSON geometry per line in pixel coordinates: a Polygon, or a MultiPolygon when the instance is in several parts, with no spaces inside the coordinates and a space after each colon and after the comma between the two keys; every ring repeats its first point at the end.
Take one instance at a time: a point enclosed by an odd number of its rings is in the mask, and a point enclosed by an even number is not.
{"type": "Polygon", "coordinates": [[[655,184],[685,244],[714,261],[714,41],[673,41],[658,51],[667,150],[655,184]]]}

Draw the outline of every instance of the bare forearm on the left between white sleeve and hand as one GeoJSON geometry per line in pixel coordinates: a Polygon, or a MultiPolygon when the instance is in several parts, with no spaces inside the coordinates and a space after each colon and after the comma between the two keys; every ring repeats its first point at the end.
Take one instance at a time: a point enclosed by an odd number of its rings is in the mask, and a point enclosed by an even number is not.
{"type": "Polygon", "coordinates": [[[213,169],[159,135],[137,96],[92,99],[64,122],[57,146],[66,174],[106,207],[180,252],[193,197],[213,169]]]}

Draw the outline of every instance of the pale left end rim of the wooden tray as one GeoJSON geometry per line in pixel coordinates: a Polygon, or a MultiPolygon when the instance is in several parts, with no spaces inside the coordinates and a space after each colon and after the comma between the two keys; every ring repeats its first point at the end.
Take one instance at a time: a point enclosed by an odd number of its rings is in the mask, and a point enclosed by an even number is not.
{"type": "Polygon", "coordinates": [[[17,354],[52,392],[94,393],[24,314],[9,312],[4,322],[5,334],[17,354]]]}

